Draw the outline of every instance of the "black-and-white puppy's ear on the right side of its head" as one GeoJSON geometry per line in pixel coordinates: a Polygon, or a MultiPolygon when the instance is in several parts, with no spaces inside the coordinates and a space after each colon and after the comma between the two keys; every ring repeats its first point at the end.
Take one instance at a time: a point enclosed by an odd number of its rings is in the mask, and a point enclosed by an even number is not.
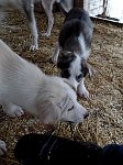
{"type": "Polygon", "coordinates": [[[88,64],[85,59],[81,61],[81,73],[83,74],[83,77],[89,75],[89,78],[94,74],[94,69],[88,64]]]}

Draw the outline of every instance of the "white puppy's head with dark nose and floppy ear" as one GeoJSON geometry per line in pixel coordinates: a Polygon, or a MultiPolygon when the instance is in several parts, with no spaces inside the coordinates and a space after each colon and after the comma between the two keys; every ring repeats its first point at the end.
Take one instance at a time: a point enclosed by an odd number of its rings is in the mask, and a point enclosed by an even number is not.
{"type": "Polygon", "coordinates": [[[68,79],[48,77],[37,96],[37,114],[41,122],[54,124],[58,121],[79,123],[87,118],[87,110],[77,101],[76,91],[68,79]]]}

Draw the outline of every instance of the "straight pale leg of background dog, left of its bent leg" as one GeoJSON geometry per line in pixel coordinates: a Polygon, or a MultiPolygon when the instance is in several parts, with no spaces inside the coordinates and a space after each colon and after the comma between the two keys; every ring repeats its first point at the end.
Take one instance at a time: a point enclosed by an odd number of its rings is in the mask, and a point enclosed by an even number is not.
{"type": "Polygon", "coordinates": [[[24,1],[23,9],[25,12],[25,15],[30,23],[31,34],[32,34],[32,45],[30,47],[31,51],[38,50],[38,34],[37,34],[37,28],[36,28],[36,21],[34,15],[34,3],[33,0],[31,1],[24,1]]]}

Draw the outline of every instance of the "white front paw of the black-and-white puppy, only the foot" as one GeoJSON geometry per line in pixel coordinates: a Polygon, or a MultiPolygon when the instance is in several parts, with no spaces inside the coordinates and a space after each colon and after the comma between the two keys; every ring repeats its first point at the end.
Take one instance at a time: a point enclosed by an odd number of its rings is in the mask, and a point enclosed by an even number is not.
{"type": "Polygon", "coordinates": [[[83,97],[86,99],[89,98],[89,91],[86,89],[86,87],[78,88],[77,92],[80,97],[83,97]]]}

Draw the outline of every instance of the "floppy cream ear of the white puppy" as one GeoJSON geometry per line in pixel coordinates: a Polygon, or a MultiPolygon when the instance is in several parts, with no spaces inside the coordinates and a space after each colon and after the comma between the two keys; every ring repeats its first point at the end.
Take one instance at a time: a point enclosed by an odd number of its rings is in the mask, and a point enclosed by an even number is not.
{"type": "Polygon", "coordinates": [[[38,101],[37,103],[37,116],[40,121],[44,124],[55,124],[60,118],[60,112],[58,106],[56,106],[51,99],[38,101]]]}

